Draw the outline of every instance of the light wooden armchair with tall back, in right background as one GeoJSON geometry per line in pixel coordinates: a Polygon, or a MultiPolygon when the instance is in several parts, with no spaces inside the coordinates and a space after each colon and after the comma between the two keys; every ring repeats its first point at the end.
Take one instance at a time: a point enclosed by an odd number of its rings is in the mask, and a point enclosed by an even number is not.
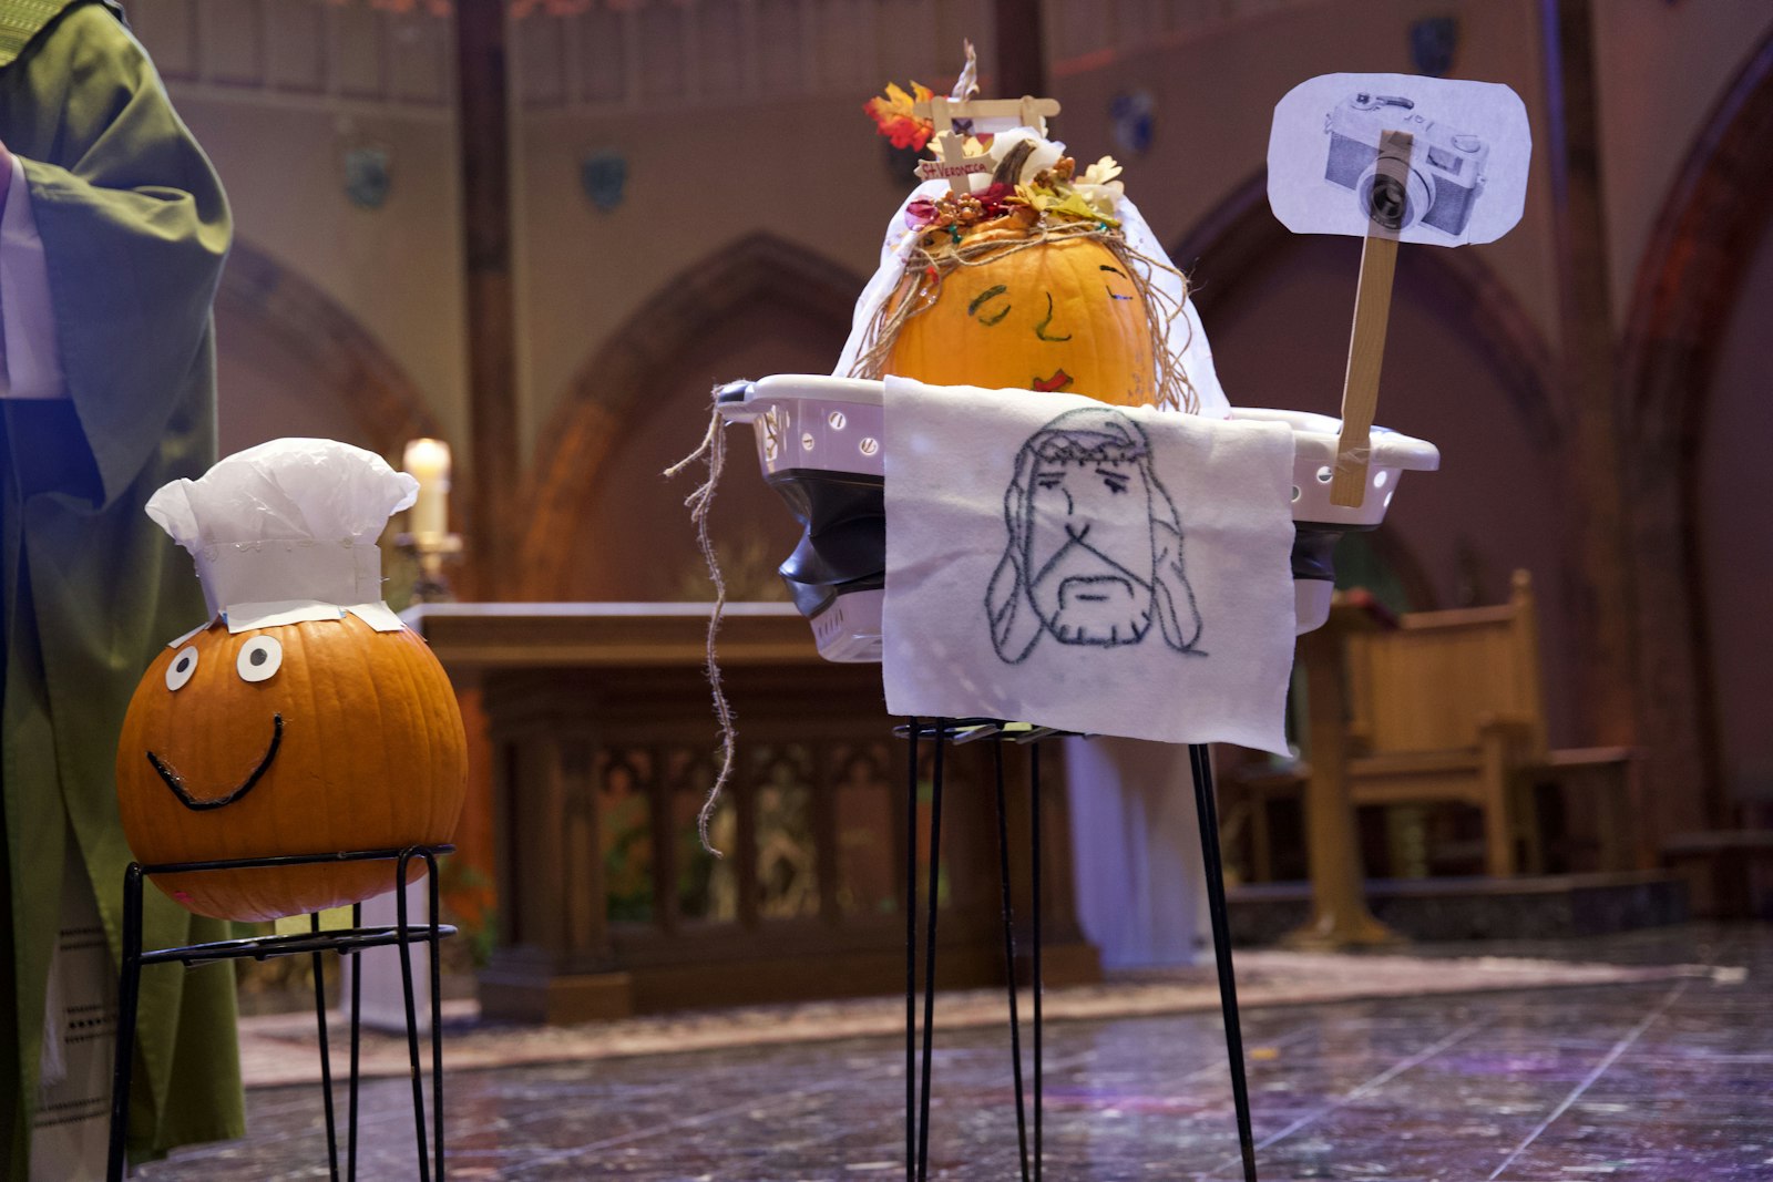
{"type": "Polygon", "coordinates": [[[1631,751],[1546,743],[1527,571],[1514,572],[1505,604],[1417,611],[1397,629],[1349,636],[1347,737],[1353,805],[1475,805],[1491,875],[1544,868],[1535,783],[1597,787],[1603,859],[1628,858],[1631,751]]]}

